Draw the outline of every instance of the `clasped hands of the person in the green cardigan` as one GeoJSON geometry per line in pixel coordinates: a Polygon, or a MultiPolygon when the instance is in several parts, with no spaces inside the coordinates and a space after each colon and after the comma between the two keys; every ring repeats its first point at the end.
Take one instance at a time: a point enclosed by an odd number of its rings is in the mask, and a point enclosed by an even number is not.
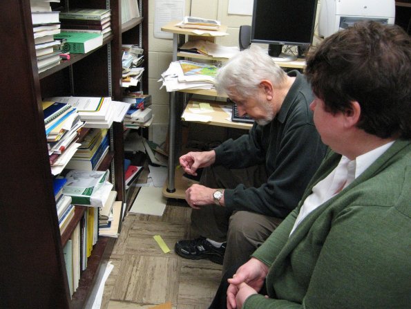
{"type": "Polygon", "coordinates": [[[228,280],[227,308],[241,308],[247,297],[261,290],[267,273],[268,266],[254,258],[238,268],[233,278],[228,280]]]}

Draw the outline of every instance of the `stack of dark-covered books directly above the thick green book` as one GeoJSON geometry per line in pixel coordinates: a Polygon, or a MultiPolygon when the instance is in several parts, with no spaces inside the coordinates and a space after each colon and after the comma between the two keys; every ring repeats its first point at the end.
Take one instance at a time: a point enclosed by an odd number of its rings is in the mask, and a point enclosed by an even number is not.
{"type": "Polygon", "coordinates": [[[93,33],[102,35],[102,39],[111,34],[110,10],[77,8],[61,12],[59,19],[61,32],[93,33]]]}

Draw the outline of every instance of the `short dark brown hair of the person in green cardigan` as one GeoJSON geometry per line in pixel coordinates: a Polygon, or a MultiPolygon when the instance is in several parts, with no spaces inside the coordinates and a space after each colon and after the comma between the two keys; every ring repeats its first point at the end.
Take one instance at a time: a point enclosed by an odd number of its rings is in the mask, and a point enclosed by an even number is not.
{"type": "Polygon", "coordinates": [[[365,21],[336,32],[309,53],[305,73],[330,113],[357,101],[359,128],[411,138],[411,39],[398,26],[365,21]]]}

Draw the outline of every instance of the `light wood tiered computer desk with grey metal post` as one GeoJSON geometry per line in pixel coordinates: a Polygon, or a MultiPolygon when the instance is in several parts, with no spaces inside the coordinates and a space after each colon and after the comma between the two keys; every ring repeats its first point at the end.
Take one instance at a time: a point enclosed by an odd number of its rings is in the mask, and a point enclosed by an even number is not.
{"type": "MultiPolygon", "coordinates": [[[[197,58],[197,59],[209,59],[211,61],[227,61],[227,58],[214,58],[207,55],[196,55],[193,53],[182,53],[178,51],[178,47],[185,43],[186,40],[198,40],[198,39],[205,39],[214,42],[216,37],[210,35],[208,32],[205,32],[203,35],[198,35],[193,32],[193,29],[187,28],[180,28],[174,26],[180,21],[171,21],[166,26],[161,28],[164,32],[171,32],[173,33],[173,62],[177,61],[178,58],[190,57],[190,58],[197,58]]],[[[227,26],[220,26],[221,32],[226,32],[227,26]]],[[[223,36],[224,33],[220,34],[219,36],[223,36]]],[[[305,66],[304,59],[297,59],[296,61],[292,62],[276,62],[278,66],[283,68],[298,68],[302,69],[305,66]]],[[[216,97],[217,93],[213,90],[202,90],[202,89],[186,89],[179,91],[180,93],[192,93],[196,95],[209,95],[216,97]]],[[[221,95],[220,95],[221,96],[221,95]]],[[[175,161],[176,161],[176,149],[175,149],[175,132],[176,132],[176,100],[177,95],[176,92],[173,91],[170,93],[169,97],[169,161],[168,161],[168,170],[167,170],[167,180],[163,187],[162,193],[163,196],[166,198],[185,198],[185,188],[187,188],[188,184],[187,181],[181,179],[182,170],[175,169],[175,161]],[[175,176],[178,175],[177,178],[175,176]],[[178,186],[178,187],[177,187],[178,186]],[[177,188],[176,188],[177,187],[177,188]]],[[[218,106],[216,106],[218,109],[218,106]]],[[[224,113],[222,111],[222,113],[224,113]]],[[[220,114],[222,115],[222,114],[220,114]]],[[[213,118],[214,120],[214,118],[213,118]]],[[[221,127],[231,127],[232,125],[242,125],[241,129],[249,129],[251,127],[249,124],[238,124],[235,122],[227,122],[226,120],[220,121],[213,121],[209,123],[211,125],[218,125],[221,127]],[[248,127],[245,127],[248,126],[248,127]]]]}

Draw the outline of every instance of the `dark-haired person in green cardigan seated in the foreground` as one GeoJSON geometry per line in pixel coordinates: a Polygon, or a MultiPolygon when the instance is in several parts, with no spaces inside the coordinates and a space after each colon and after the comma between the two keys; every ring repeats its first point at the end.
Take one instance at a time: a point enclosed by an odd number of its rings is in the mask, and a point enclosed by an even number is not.
{"type": "Polygon", "coordinates": [[[411,39],[361,22],[325,39],[305,71],[329,151],[210,308],[411,308],[411,39]]]}

